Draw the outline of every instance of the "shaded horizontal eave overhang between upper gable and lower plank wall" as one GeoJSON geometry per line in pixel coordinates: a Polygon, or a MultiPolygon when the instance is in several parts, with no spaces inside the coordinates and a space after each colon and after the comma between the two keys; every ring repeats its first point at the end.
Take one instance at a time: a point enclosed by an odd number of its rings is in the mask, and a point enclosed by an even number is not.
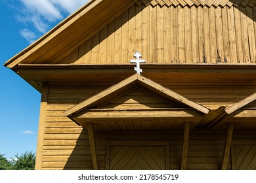
{"type": "MultiPolygon", "coordinates": [[[[43,82],[115,84],[133,75],[127,65],[18,64],[14,71],[41,91],[43,82]]],[[[255,82],[256,64],[143,64],[143,75],[155,82],[255,82]],[[185,74],[185,75],[184,75],[185,74]],[[210,79],[209,79],[210,78],[210,79]]]]}

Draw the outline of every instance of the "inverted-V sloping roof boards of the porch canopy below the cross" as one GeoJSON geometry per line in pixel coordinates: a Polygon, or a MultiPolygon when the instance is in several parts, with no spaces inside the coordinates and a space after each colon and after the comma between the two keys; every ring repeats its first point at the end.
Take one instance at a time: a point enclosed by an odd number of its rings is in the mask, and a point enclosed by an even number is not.
{"type": "Polygon", "coordinates": [[[75,105],[74,107],[66,110],[64,115],[72,116],[73,114],[77,114],[85,109],[94,109],[100,105],[105,105],[106,103],[110,103],[109,101],[116,99],[116,97],[119,95],[123,95],[123,93],[129,92],[137,86],[140,86],[150,93],[154,93],[154,95],[157,95],[166,101],[173,101],[174,103],[177,103],[181,106],[190,107],[198,112],[201,112],[202,114],[208,114],[209,112],[209,110],[202,105],[198,105],[197,103],[194,103],[185,97],[182,97],[182,95],[164,88],[160,84],[157,84],[156,82],[153,82],[144,76],[135,74],[104,90],[103,92],[100,92],[93,97],[79,103],[78,105],[75,105]]]}

